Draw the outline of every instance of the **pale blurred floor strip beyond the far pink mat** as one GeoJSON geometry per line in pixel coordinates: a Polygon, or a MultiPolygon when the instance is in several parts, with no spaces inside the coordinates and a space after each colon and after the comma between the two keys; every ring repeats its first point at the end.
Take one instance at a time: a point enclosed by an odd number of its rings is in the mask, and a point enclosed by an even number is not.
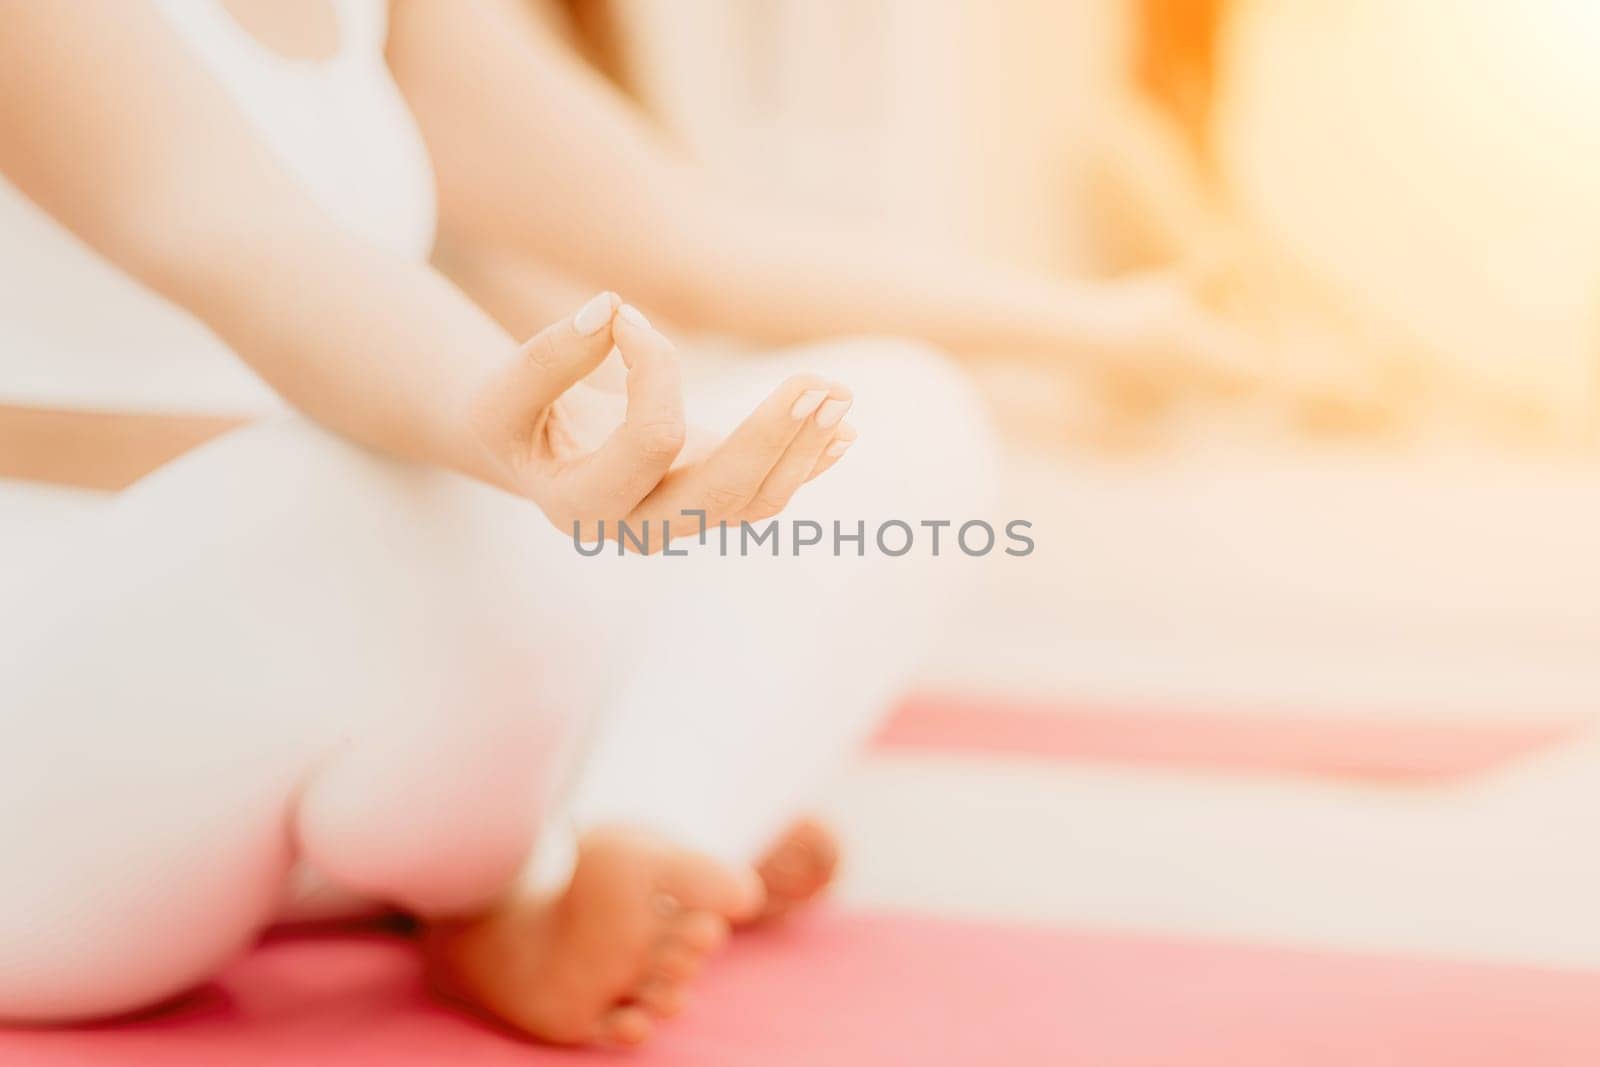
{"type": "Polygon", "coordinates": [[[1600,470],[1458,454],[1016,456],[930,680],[1326,712],[1600,709],[1600,470]]]}

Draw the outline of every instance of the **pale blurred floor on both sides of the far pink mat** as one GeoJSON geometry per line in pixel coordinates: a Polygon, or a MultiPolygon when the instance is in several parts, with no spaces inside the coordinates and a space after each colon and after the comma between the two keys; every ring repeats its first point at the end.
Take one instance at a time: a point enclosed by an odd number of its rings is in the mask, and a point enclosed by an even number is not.
{"type": "MultiPolygon", "coordinates": [[[[1466,458],[1013,464],[930,685],[1294,715],[1600,707],[1600,477],[1466,458]]],[[[1600,968],[1600,744],[1453,787],[874,755],[848,902],[1600,968]]]]}

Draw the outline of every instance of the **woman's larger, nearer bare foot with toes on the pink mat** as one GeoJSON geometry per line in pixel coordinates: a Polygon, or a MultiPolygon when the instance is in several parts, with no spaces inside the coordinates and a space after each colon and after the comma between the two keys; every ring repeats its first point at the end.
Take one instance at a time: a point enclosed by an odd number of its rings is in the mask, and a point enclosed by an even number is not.
{"type": "Polygon", "coordinates": [[[629,830],[594,830],[566,889],[427,931],[434,989],[555,1045],[638,1045],[762,910],[749,872],[629,830]]]}

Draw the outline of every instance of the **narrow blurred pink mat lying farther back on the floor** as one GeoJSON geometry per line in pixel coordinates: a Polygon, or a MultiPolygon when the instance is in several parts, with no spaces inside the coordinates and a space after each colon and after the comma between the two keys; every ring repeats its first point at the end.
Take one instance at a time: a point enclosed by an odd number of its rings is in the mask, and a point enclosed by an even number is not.
{"type": "Polygon", "coordinates": [[[877,744],[890,750],[1426,782],[1512,763],[1582,728],[1571,718],[1486,723],[917,696],[894,713],[877,744]]]}

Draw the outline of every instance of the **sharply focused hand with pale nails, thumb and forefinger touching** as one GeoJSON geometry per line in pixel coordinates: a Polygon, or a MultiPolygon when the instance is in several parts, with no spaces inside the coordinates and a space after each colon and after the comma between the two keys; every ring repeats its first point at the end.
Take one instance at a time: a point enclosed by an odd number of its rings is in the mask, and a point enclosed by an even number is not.
{"type": "Polygon", "coordinates": [[[838,382],[797,374],[725,438],[691,430],[677,349],[602,293],[499,368],[469,418],[507,488],[560,530],[618,539],[626,523],[648,528],[659,550],[667,523],[674,537],[699,533],[696,512],[707,525],[781,512],[850,448],[850,403],[838,382]],[[584,381],[613,347],[627,371],[621,397],[584,381]]]}

